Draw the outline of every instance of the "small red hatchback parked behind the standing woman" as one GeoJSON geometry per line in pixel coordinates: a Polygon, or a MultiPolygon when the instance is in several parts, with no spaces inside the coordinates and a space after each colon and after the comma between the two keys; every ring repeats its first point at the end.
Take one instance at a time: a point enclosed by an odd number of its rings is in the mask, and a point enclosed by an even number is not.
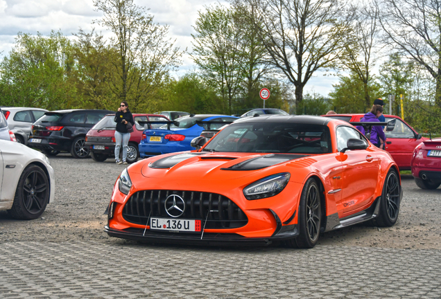
{"type": "MultiPolygon", "coordinates": [[[[90,147],[90,155],[94,161],[103,162],[115,151],[115,127],[114,114],[107,114],[92,129],[87,132],[85,145],[90,147]]],[[[141,141],[142,132],[145,129],[156,129],[162,124],[139,125],[139,121],[168,121],[168,118],[157,114],[133,114],[135,126],[130,134],[128,143],[127,162],[136,162],[139,158],[138,145],[141,141]]],[[[120,154],[122,154],[122,149],[120,154]]]]}

